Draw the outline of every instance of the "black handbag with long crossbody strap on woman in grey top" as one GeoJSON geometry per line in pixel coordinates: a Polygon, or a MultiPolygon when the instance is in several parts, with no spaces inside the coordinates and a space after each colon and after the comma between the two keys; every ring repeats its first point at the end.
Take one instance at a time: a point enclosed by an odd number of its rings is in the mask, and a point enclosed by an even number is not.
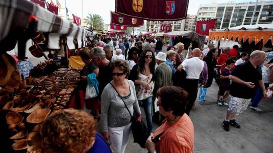
{"type": "MultiPolygon", "coordinates": [[[[110,83],[110,84],[112,85],[112,87],[115,89],[115,91],[119,95],[119,92],[116,90],[116,88],[113,86],[113,84],[112,83],[110,83]]],[[[134,137],[134,143],[136,142],[140,145],[141,148],[145,148],[146,140],[149,137],[146,125],[143,123],[143,121],[141,121],[141,122],[137,121],[136,115],[132,115],[130,113],[127,105],[125,104],[124,100],[122,99],[122,97],[120,95],[119,95],[119,98],[123,101],[126,109],[128,110],[128,112],[131,116],[131,122],[132,122],[131,130],[132,130],[133,137],[134,137]]]]}

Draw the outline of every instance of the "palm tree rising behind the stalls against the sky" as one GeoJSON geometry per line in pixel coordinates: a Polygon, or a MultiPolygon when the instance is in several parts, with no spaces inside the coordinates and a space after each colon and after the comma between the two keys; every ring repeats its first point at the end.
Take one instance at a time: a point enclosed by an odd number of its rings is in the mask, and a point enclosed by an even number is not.
{"type": "Polygon", "coordinates": [[[87,25],[90,25],[94,29],[103,30],[104,29],[104,22],[101,15],[94,14],[91,15],[88,13],[87,16],[87,25]]]}

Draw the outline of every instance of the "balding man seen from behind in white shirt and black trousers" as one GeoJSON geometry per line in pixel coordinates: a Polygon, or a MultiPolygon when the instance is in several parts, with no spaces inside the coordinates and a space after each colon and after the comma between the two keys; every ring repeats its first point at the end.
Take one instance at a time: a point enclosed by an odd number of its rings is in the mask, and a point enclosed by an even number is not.
{"type": "Polygon", "coordinates": [[[199,76],[204,67],[204,62],[199,59],[200,52],[199,48],[193,49],[192,58],[185,59],[181,65],[177,67],[178,71],[181,71],[182,68],[185,69],[187,74],[184,89],[189,93],[185,111],[188,115],[190,115],[190,110],[196,100],[199,76]]]}

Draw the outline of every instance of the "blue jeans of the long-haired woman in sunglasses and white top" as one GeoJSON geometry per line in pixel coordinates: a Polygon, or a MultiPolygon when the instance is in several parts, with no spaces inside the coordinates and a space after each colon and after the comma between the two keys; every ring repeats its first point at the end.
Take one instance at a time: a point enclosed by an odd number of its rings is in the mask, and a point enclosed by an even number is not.
{"type": "Polygon", "coordinates": [[[147,121],[147,128],[148,132],[151,133],[153,130],[153,122],[152,122],[152,106],[153,106],[153,96],[150,96],[144,100],[138,100],[138,104],[140,105],[141,102],[144,107],[146,121],[147,121]]]}

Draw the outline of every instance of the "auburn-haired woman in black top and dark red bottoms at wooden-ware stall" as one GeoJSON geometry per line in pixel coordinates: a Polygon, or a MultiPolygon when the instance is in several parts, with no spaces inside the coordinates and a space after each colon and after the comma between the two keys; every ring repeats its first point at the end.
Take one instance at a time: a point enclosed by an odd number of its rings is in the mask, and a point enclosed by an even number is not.
{"type": "MultiPolygon", "coordinates": [[[[78,81],[78,100],[80,102],[80,109],[83,108],[83,105],[85,103],[85,90],[87,87],[87,75],[91,74],[91,73],[95,73],[96,75],[99,74],[99,69],[94,65],[94,63],[92,62],[92,60],[89,57],[89,49],[85,48],[82,49],[79,52],[80,57],[82,58],[82,61],[84,62],[84,67],[83,68],[74,68],[74,70],[79,70],[80,71],[80,76],[81,76],[81,80],[78,81]]],[[[98,109],[97,107],[99,107],[97,105],[97,102],[95,106],[90,106],[87,104],[87,108],[88,109],[95,109],[96,111],[96,118],[99,117],[99,113],[98,113],[98,109]],[[90,107],[89,107],[90,106],[90,107]],[[94,108],[95,107],[95,108],[94,108]]]]}

